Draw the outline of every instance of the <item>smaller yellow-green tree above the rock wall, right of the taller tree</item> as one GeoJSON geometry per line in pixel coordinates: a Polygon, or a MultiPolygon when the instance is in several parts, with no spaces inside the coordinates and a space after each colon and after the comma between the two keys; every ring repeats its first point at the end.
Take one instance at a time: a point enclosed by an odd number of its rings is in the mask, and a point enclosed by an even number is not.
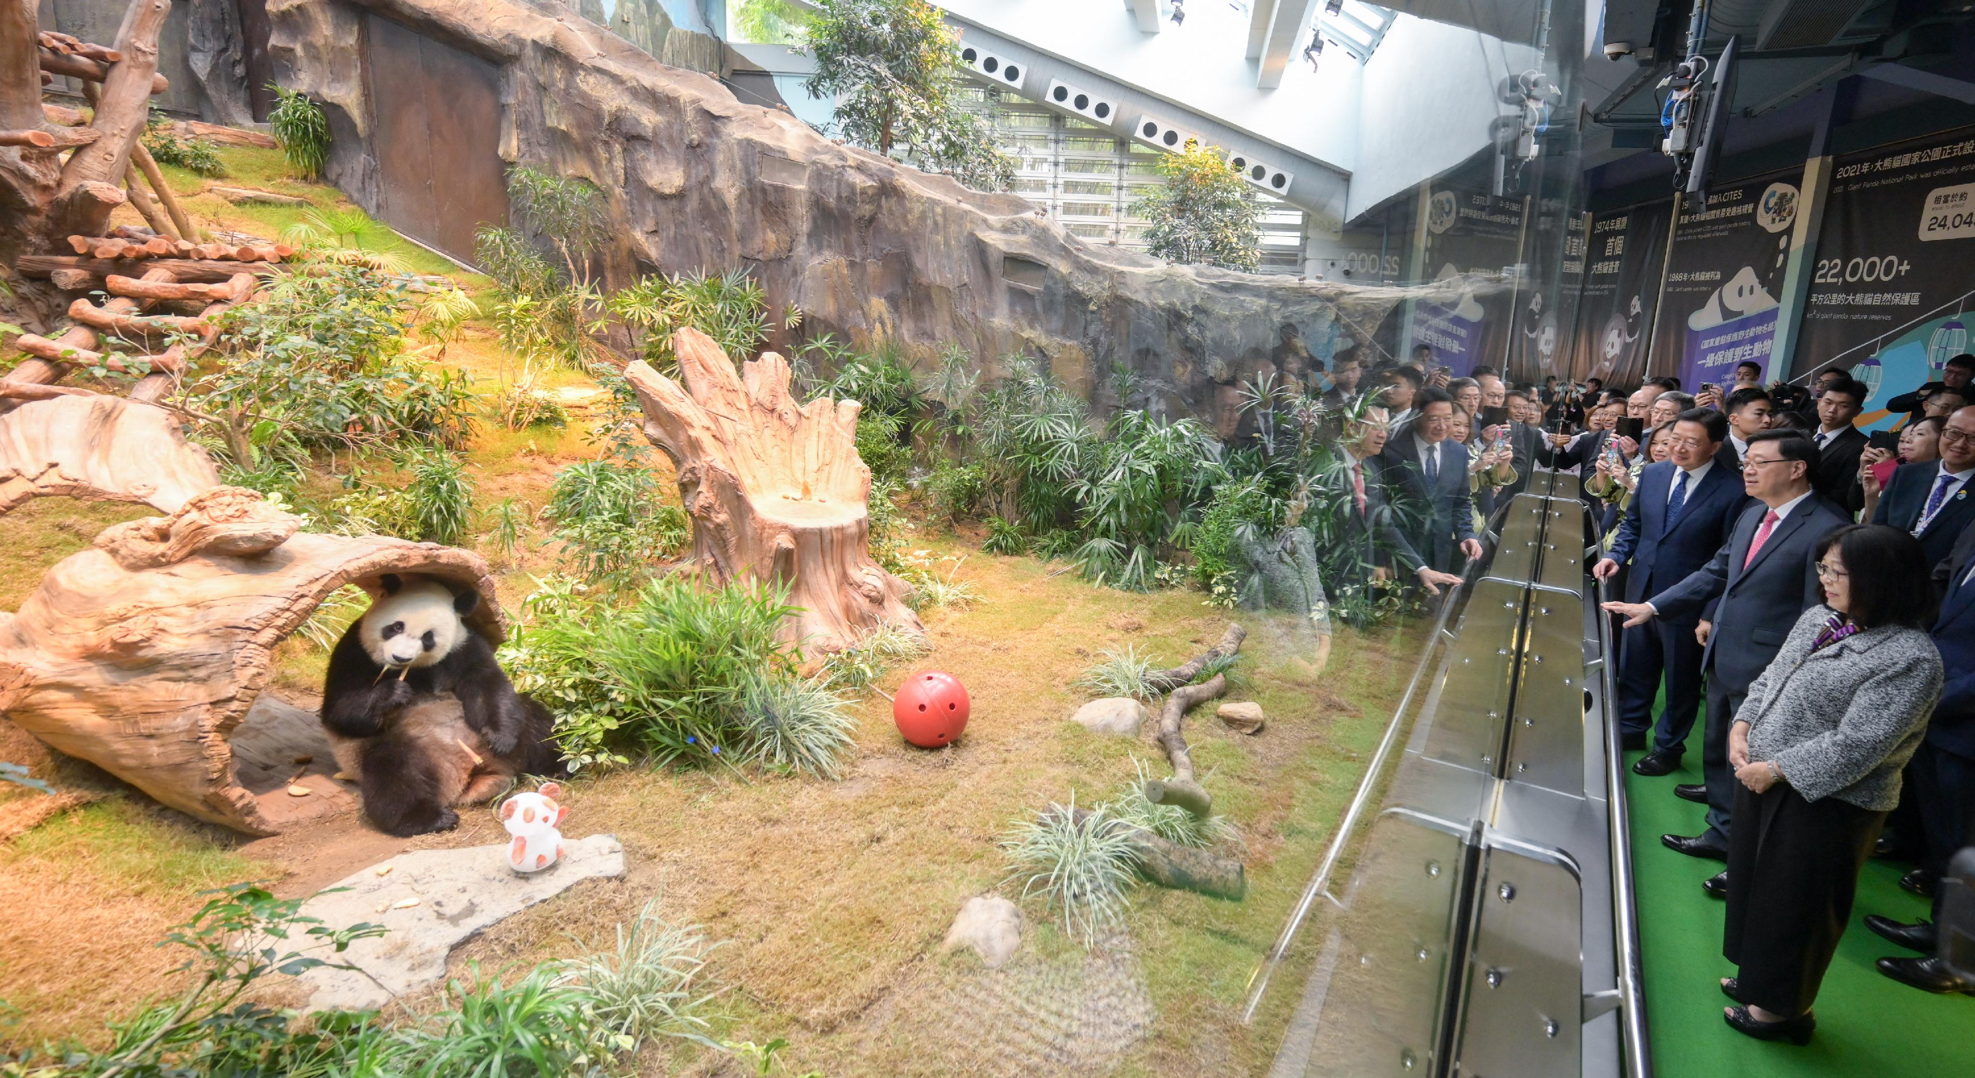
{"type": "Polygon", "coordinates": [[[1151,221],[1149,251],[1173,263],[1254,272],[1262,267],[1262,203],[1240,174],[1207,146],[1159,160],[1165,184],[1142,197],[1132,213],[1151,221]]]}

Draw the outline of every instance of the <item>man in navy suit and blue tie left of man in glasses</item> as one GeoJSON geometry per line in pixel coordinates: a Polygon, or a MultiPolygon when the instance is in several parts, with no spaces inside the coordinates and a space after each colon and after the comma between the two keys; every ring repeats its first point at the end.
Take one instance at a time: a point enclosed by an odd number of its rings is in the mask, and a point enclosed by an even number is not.
{"type": "MultiPolygon", "coordinates": [[[[1625,602],[1645,602],[1704,567],[1734,533],[1742,515],[1742,478],[1714,464],[1728,436],[1728,419],[1714,409],[1689,409],[1673,424],[1673,458],[1647,464],[1631,509],[1618,527],[1612,553],[1592,567],[1600,580],[1631,561],[1625,602]]],[[[1661,776],[1681,766],[1687,732],[1700,709],[1698,612],[1653,618],[1625,630],[1620,652],[1620,729],[1643,748],[1653,725],[1653,697],[1667,679],[1667,709],[1659,715],[1653,750],[1631,766],[1635,774],[1661,776]]]]}

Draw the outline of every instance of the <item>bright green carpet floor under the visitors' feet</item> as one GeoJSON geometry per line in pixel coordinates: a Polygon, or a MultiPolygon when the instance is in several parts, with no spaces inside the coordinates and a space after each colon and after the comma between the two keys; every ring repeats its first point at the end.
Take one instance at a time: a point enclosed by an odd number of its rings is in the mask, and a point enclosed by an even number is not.
{"type": "MultiPolygon", "coordinates": [[[[1627,764],[1637,756],[1629,752],[1627,764]]],[[[1641,778],[1627,768],[1625,780],[1645,1013],[1659,1078],[1975,1074],[1975,997],[1930,995],[1872,967],[1880,956],[1912,952],[1874,936],[1864,926],[1866,914],[1908,922],[1928,916],[1926,900],[1898,886],[1906,867],[1886,861],[1866,863],[1858,881],[1851,928],[1817,995],[1817,1035],[1809,1046],[1764,1044],[1728,1029],[1722,1023],[1728,999],[1716,983],[1734,975],[1722,958],[1724,904],[1700,890],[1700,881],[1722,865],[1673,853],[1659,841],[1665,833],[1698,835],[1704,827],[1704,806],[1673,796],[1675,782],[1700,782],[1698,725],[1685,770],[1641,778]]]]}

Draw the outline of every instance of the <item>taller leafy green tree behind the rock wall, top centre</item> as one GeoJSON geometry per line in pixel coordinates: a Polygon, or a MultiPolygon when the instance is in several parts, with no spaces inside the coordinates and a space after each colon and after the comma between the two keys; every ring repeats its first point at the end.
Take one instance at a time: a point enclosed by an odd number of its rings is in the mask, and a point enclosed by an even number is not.
{"type": "Polygon", "coordinates": [[[808,28],[816,75],[808,91],[835,95],[837,136],[970,188],[1015,184],[1015,158],[960,107],[960,38],[926,0],[818,0],[808,28]]]}

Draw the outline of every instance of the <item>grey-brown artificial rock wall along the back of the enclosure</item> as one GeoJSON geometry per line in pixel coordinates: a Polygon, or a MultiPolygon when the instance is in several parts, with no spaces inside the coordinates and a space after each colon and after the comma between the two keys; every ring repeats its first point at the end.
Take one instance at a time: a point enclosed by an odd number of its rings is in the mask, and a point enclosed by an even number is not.
{"type": "Polygon", "coordinates": [[[375,209],[379,197],[363,71],[375,12],[500,69],[500,156],[608,195],[608,282],[747,267],[776,310],[802,308],[804,336],[891,340],[912,357],[958,342],[989,375],[1023,353],[1100,407],[1116,405],[1108,375],[1126,365],[1151,389],[1130,405],[1234,434],[1244,379],[1369,344],[1406,296],[1086,245],[1015,195],[833,144],[573,14],[508,0],[267,6],[276,77],[328,109],[328,174],[356,201],[375,209]]]}

